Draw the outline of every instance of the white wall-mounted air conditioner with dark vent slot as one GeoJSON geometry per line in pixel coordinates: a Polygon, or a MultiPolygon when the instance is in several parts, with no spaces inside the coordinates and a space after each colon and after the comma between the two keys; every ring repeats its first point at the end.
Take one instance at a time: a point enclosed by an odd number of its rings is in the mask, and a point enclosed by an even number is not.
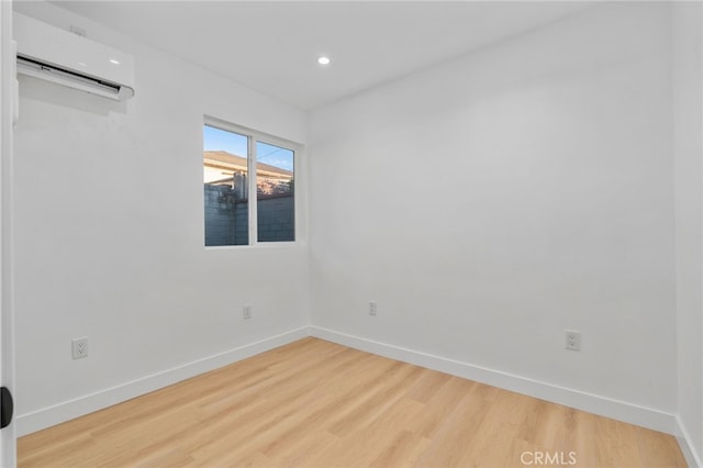
{"type": "Polygon", "coordinates": [[[14,13],[18,73],[114,100],[134,96],[130,55],[14,13]]]}

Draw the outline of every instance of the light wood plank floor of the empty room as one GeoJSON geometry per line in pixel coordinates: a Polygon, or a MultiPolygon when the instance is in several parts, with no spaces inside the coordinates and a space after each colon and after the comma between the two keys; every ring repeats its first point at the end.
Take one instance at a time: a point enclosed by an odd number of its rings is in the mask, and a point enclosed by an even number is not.
{"type": "Polygon", "coordinates": [[[315,338],[19,441],[21,468],[523,463],[685,466],[669,435],[315,338]]]}

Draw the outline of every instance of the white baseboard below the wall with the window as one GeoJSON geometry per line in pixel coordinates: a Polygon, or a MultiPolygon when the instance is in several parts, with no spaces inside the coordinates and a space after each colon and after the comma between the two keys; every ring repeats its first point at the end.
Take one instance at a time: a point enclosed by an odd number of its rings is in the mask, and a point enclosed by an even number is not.
{"type": "Polygon", "coordinates": [[[102,410],[306,336],[310,336],[310,330],[308,326],[303,326],[53,406],[20,414],[16,417],[18,437],[102,410]]]}

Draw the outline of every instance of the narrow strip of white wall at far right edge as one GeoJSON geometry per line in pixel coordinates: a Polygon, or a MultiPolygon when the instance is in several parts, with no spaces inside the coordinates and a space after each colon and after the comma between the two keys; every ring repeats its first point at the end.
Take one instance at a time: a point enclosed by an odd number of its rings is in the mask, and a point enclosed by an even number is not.
{"type": "Polygon", "coordinates": [[[699,2],[673,5],[678,405],[683,435],[698,452],[698,465],[703,463],[702,13],[699,2]]]}

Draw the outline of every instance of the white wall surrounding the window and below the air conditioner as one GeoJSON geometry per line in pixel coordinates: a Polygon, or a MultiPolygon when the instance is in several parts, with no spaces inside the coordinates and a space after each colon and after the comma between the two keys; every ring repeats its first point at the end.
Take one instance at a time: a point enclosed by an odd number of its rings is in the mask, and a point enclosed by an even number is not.
{"type": "MultiPolygon", "coordinates": [[[[133,54],[136,69],[136,97],[124,103],[21,79],[20,431],[129,397],[124,385],[134,380],[305,326],[303,244],[203,247],[201,141],[209,114],[304,143],[304,113],[53,5],[16,9],[85,27],[133,54]],[[254,308],[246,322],[244,303],[254,308]],[[89,337],[89,357],[71,360],[70,341],[80,336],[89,337]],[[83,405],[71,402],[94,392],[83,405]]],[[[304,185],[298,187],[304,197],[304,185]]],[[[189,369],[178,376],[203,366],[189,369]]]]}

